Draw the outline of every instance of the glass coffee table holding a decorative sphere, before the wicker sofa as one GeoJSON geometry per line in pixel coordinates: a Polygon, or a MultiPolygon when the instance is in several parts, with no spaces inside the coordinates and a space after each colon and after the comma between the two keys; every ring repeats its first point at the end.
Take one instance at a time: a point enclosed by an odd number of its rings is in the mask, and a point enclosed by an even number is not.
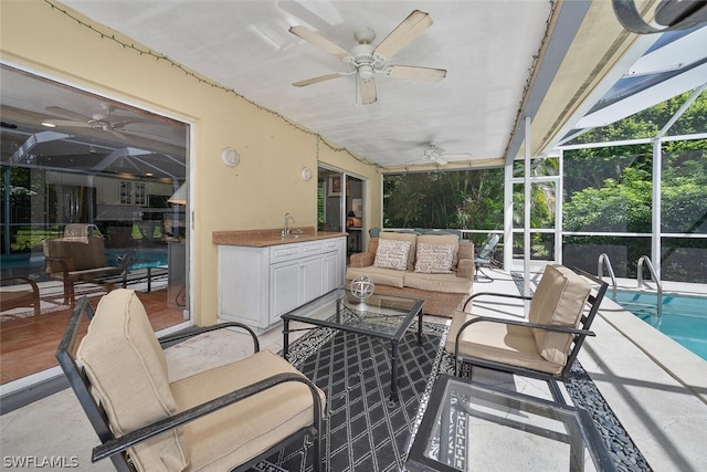
{"type": "MultiPolygon", "coordinates": [[[[398,345],[418,317],[418,344],[422,344],[422,300],[373,294],[361,306],[348,291],[338,289],[282,316],[283,357],[287,358],[291,322],[356,333],[390,342],[390,400],[398,401],[398,345]]],[[[312,328],[304,328],[312,329],[312,328]]]]}

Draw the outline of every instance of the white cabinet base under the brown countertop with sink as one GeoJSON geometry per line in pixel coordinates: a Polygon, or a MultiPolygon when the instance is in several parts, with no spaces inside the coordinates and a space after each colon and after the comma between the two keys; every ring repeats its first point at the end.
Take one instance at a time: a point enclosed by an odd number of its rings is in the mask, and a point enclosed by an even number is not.
{"type": "Polygon", "coordinates": [[[346,238],[266,248],[219,245],[219,318],[266,329],[344,285],[346,238]]]}

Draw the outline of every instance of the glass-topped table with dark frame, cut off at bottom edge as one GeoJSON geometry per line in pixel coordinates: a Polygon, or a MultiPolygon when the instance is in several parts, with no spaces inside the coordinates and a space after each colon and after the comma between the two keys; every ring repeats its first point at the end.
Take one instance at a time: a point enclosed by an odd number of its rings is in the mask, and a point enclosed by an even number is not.
{"type": "Polygon", "coordinates": [[[441,375],[412,441],[418,471],[615,471],[583,409],[441,375]]]}

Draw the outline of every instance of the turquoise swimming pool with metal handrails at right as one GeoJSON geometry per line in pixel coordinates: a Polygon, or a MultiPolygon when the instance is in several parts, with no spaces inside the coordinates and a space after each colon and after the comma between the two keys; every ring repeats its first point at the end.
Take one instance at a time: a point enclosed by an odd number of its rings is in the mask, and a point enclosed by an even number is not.
{"type": "Polygon", "coordinates": [[[659,317],[655,293],[618,291],[616,303],[707,360],[707,297],[664,294],[659,317]]]}

